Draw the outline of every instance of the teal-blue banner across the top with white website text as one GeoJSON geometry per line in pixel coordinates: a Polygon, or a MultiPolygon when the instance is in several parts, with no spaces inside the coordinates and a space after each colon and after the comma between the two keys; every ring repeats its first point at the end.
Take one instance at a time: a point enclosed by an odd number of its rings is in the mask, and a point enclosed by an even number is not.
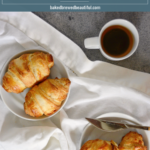
{"type": "Polygon", "coordinates": [[[0,11],[150,11],[149,0],[1,0],[0,2],[0,11]],[[56,9],[50,9],[52,6],[56,9]],[[65,8],[58,9],[57,6],[65,8]],[[71,8],[75,6],[78,8],[71,8]],[[99,8],[94,9],[93,6],[99,8]],[[70,8],[66,9],[67,7],[70,8]]]}

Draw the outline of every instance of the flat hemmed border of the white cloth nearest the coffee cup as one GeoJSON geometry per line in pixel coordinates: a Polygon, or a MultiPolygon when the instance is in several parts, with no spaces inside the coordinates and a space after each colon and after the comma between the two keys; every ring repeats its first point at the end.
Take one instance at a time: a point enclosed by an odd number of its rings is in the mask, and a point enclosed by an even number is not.
{"type": "Polygon", "coordinates": [[[53,52],[78,76],[124,85],[150,95],[149,74],[106,62],[90,61],[79,46],[34,14],[1,12],[0,19],[19,29],[37,45],[53,52]]]}

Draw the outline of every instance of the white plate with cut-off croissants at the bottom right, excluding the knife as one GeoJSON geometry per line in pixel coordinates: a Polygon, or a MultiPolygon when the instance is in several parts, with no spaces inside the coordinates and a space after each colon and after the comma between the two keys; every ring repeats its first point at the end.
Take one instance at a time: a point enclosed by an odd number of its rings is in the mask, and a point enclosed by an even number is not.
{"type": "MultiPolygon", "coordinates": [[[[132,116],[122,113],[107,113],[97,118],[121,123],[140,125],[132,116]]],[[[126,129],[117,132],[99,130],[90,123],[81,135],[80,150],[149,150],[147,132],[138,129],[126,129]]]]}

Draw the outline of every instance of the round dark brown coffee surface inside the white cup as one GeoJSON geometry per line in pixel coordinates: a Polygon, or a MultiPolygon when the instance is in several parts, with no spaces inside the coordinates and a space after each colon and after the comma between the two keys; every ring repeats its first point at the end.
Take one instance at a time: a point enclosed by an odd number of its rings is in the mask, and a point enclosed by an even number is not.
{"type": "Polygon", "coordinates": [[[127,28],[113,25],[104,30],[100,42],[107,55],[123,57],[131,51],[134,40],[127,28]]]}

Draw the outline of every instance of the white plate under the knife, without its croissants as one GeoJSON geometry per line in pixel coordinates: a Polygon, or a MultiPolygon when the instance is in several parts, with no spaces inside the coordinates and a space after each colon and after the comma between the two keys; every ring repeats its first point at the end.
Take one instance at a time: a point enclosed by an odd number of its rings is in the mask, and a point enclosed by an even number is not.
{"type": "MultiPolygon", "coordinates": [[[[103,118],[105,120],[115,120],[117,122],[119,121],[122,123],[132,123],[132,124],[140,125],[138,120],[136,120],[135,118],[129,115],[122,114],[122,113],[107,113],[97,118],[103,118]]],[[[135,131],[141,134],[143,136],[145,146],[147,146],[147,149],[149,149],[150,143],[149,143],[149,139],[147,135],[148,131],[138,130],[138,129],[126,129],[126,130],[117,131],[117,132],[105,132],[105,131],[99,130],[98,128],[94,127],[90,123],[83,130],[80,143],[79,143],[79,147],[81,148],[81,146],[86,141],[95,140],[95,139],[101,139],[101,140],[106,140],[106,141],[113,140],[117,144],[119,144],[121,142],[122,137],[125,136],[129,131],[135,131]]]]}

